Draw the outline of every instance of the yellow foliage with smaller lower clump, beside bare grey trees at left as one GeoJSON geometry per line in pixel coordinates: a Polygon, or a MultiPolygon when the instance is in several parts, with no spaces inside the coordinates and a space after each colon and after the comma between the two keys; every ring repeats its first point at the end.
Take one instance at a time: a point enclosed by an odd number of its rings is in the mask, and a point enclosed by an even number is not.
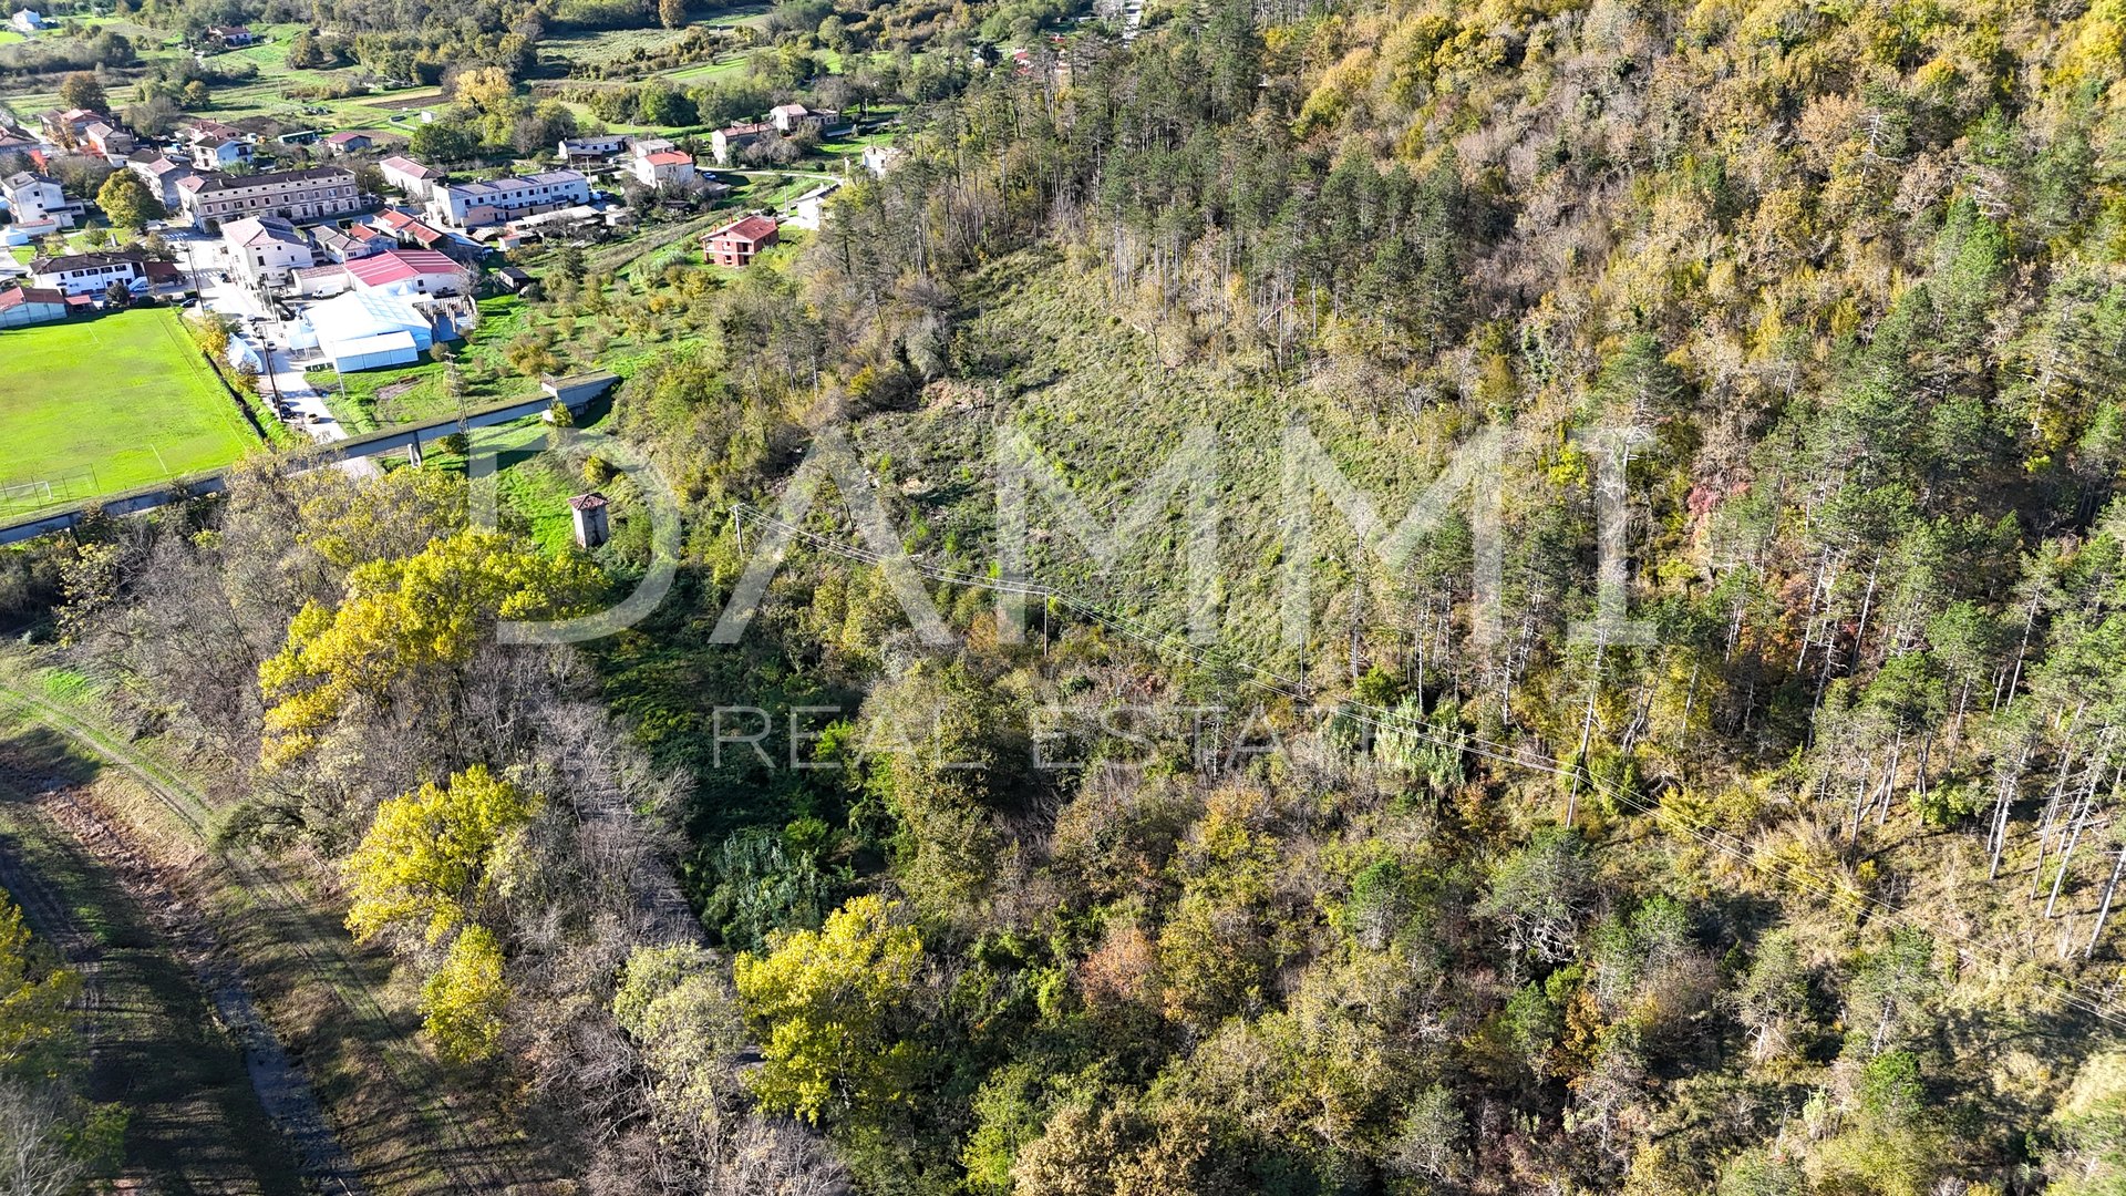
{"type": "Polygon", "coordinates": [[[444,1058],[485,1060],[502,1041],[502,941],[474,917],[540,804],[538,794],[476,764],[449,785],[421,785],[376,807],[347,860],[355,938],[419,926],[429,945],[451,943],[421,987],[421,1015],[444,1058]]]}

